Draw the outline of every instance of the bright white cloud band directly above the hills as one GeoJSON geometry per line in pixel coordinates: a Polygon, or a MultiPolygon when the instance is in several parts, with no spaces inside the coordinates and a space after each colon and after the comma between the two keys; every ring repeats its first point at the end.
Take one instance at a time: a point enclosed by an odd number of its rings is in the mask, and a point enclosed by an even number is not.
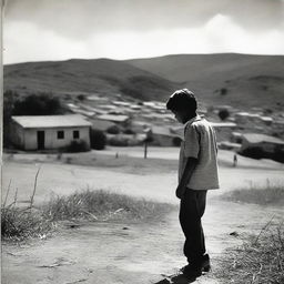
{"type": "Polygon", "coordinates": [[[70,58],[129,59],[173,53],[283,54],[283,31],[254,33],[223,14],[212,17],[197,28],[178,28],[170,32],[165,29],[139,33],[97,32],[85,40],[62,37],[29,22],[14,22],[6,28],[3,59],[4,63],[12,63],[70,58]]]}

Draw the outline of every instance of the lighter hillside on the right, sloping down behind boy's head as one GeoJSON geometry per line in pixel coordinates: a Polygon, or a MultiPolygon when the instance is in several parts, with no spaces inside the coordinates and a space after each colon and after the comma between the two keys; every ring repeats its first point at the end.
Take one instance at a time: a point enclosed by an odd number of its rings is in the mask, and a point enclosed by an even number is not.
{"type": "Polygon", "coordinates": [[[207,104],[284,106],[284,57],[223,54],[178,54],[126,61],[164,79],[180,82],[207,104]],[[226,94],[221,94],[221,89],[226,94]]]}

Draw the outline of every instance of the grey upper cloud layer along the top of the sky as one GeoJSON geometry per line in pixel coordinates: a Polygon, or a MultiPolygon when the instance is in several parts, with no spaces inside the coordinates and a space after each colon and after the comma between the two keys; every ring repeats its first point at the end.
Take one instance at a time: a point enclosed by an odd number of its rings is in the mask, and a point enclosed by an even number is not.
{"type": "Polygon", "coordinates": [[[7,20],[31,21],[65,37],[97,31],[196,28],[217,13],[246,29],[283,24],[281,0],[7,0],[7,20]]]}

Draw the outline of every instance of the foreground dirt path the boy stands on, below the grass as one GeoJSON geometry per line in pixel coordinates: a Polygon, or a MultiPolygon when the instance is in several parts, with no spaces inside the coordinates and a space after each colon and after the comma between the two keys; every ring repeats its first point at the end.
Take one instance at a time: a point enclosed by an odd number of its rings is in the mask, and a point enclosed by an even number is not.
{"type": "MultiPolygon", "coordinates": [[[[243,234],[257,233],[272,216],[276,221],[282,215],[277,209],[211,201],[204,230],[213,267],[224,248],[242,243],[243,234]],[[232,232],[239,236],[231,236],[232,232]]],[[[100,222],[63,227],[49,240],[3,245],[2,283],[155,283],[185,264],[182,245],[178,212],[155,224],[100,222]]],[[[195,283],[219,281],[213,271],[195,283]]]]}

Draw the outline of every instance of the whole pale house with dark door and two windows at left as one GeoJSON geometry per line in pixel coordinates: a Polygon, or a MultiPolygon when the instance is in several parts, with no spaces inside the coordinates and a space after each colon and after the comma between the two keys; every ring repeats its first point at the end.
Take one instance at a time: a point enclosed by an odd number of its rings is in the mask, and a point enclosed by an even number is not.
{"type": "Polygon", "coordinates": [[[11,142],[23,150],[55,150],[84,141],[90,146],[90,126],[82,115],[12,116],[11,142]]]}

